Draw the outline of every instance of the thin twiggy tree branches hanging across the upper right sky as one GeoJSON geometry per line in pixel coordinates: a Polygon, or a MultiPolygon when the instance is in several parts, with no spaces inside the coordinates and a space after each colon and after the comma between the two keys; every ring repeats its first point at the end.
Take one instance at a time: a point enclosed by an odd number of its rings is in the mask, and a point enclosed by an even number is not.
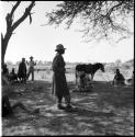
{"type": "Polygon", "coordinates": [[[66,23],[67,28],[79,19],[86,42],[110,39],[112,36],[117,36],[120,41],[133,34],[127,21],[134,19],[134,0],[63,1],[46,16],[47,25],[66,23]]]}

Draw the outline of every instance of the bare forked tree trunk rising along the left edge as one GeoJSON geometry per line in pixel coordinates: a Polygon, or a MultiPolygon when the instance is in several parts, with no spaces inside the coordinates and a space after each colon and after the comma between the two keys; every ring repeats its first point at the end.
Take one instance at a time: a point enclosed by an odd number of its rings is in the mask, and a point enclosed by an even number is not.
{"type": "Polygon", "coordinates": [[[7,47],[8,47],[8,43],[14,32],[14,30],[27,18],[30,16],[30,24],[32,23],[32,16],[31,16],[31,11],[33,9],[33,7],[35,5],[35,1],[32,1],[27,8],[25,8],[25,11],[23,13],[22,16],[20,16],[15,22],[14,22],[14,13],[16,11],[16,9],[19,8],[19,5],[21,4],[21,1],[16,1],[14,3],[14,5],[12,7],[10,13],[7,13],[5,16],[5,22],[7,22],[7,31],[5,34],[1,33],[1,62],[2,65],[4,64],[4,56],[5,56],[5,52],[7,52],[7,47]]]}

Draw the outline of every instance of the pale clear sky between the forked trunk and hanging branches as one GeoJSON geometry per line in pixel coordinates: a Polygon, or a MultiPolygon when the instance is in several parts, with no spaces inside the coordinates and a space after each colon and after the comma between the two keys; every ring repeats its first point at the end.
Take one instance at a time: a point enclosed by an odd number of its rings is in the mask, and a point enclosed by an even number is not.
{"type": "MultiPolygon", "coordinates": [[[[65,30],[61,25],[55,28],[54,25],[43,25],[47,22],[46,12],[52,11],[58,1],[36,1],[33,8],[33,22],[30,25],[29,18],[14,31],[7,54],[5,61],[16,62],[25,57],[27,60],[33,56],[35,60],[52,61],[56,52],[56,45],[63,44],[67,49],[65,52],[65,61],[81,62],[114,62],[121,59],[122,62],[134,58],[134,37],[123,39],[119,44],[111,45],[106,41],[100,43],[83,43],[82,34],[76,32],[79,26],[75,24],[70,30],[65,30]]],[[[27,2],[24,2],[24,5],[27,2]]],[[[11,4],[1,2],[2,32],[5,32],[4,16],[11,10],[11,4]]],[[[14,19],[21,15],[24,7],[21,7],[14,19]]],[[[0,12],[1,12],[0,11],[0,12]]]]}

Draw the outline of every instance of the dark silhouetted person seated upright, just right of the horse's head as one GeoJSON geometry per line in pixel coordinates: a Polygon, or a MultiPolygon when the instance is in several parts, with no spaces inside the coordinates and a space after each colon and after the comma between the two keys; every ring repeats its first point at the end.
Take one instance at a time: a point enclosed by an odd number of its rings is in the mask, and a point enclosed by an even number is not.
{"type": "Polygon", "coordinates": [[[120,69],[116,69],[114,79],[113,79],[113,84],[115,85],[123,85],[125,84],[125,78],[123,75],[120,72],[120,69]]]}

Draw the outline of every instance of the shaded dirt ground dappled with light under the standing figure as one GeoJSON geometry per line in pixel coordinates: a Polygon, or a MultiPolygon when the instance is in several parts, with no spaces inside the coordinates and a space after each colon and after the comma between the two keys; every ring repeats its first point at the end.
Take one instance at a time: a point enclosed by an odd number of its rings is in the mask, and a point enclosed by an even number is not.
{"type": "Polygon", "coordinates": [[[72,112],[57,110],[52,82],[14,85],[10,101],[21,101],[27,107],[40,109],[40,113],[31,115],[16,109],[13,116],[2,118],[2,135],[134,135],[134,87],[95,81],[91,91],[75,92],[75,83],[68,85],[72,112]]]}

